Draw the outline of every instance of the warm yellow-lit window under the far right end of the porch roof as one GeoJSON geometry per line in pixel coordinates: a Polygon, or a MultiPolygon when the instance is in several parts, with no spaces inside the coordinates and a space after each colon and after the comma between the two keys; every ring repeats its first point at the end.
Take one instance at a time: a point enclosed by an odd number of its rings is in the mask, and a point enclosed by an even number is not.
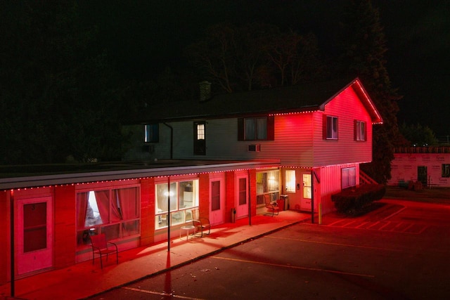
{"type": "Polygon", "coordinates": [[[263,171],[256,174],[257,204],[265,204],[265,199],[276,201],[280,197],[280,172],[263,171]]]}

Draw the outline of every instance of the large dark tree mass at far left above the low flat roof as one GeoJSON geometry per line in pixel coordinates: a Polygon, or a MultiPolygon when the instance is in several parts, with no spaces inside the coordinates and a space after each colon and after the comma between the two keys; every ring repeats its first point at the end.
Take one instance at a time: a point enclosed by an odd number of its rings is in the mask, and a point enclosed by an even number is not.
{"type": "Polygon", "coordinates": [[[77,2],[0,11],[0,164],[120,157],[120,81],[77,2]]]}

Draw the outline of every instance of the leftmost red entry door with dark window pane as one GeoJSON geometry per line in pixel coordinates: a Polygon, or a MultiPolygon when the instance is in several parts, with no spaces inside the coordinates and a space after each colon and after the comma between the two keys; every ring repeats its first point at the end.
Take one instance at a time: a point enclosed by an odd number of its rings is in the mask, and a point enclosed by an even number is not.
{"type": "Polygon", "coordinates": [[[15,247],[18,275],[52,266],[51,197],[18,200],[15,247]]]}

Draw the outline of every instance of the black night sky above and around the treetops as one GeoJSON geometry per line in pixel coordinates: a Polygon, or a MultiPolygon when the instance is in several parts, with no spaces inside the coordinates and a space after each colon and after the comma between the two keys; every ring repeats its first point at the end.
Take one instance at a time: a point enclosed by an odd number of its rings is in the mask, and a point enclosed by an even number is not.
{"type": "MultiPolygon", "coordinates": [[[[101,46],[130,78],[151,78],[182,63],[183,48],[217,22],[266,22],[313,32],[325,51],[349,0],[86,1],[87,20],[100,25],[101,46]]],[[[84,6],[83,6],[84,5],[84,6]]],[[[387,70],[398,88],[399,124],[420,123],[450,135],[450,1],[373,0],[387,38],[387,70]]]]}

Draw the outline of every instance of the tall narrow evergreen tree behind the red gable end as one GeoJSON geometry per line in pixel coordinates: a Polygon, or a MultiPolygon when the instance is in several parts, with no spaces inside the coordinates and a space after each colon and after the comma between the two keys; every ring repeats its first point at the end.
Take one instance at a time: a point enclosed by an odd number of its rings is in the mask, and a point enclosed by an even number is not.
{"type": "Polygon", "coordinates": [[[373,128],[373,161],[361,168],[379,183],[386,183],[391,178],[393,148],[399,141],[397,100],[400,97],[392,89],[385,67],[387,46],[378,10],[370,0],[352,1],[342,29],[338,72],[358,76],[383,117],[383,125],[373,128]]]}

